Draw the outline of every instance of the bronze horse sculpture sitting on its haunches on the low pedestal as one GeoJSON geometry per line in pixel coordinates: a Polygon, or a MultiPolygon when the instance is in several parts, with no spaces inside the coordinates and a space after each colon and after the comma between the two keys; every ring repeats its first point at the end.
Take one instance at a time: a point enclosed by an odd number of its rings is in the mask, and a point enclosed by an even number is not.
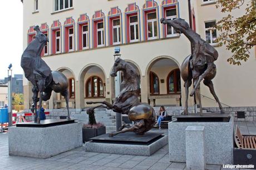
{"type": "Polygon", "coordinates": [[[123,79],[121,83],[121,92],[116,97],[114,104],[107,102],[87,102],[87,104],[101,103],[101,105],[87,109],[90,114],[97,107],[112,109],[120,114],[127,114],[130,121],[134,121],[133,126],[122,125],[115,133],[110,133],[113,137],[119,133],[135,132],[136,134],[144,134],[149,131],[155,123],[155,111],[147,103],[140,103],[138,98],[140,77],[131,64],[125,62],[121,58],[117,58],[112,67],[110,76],[116,77],[117,72],[122,71],[123,79]]]}

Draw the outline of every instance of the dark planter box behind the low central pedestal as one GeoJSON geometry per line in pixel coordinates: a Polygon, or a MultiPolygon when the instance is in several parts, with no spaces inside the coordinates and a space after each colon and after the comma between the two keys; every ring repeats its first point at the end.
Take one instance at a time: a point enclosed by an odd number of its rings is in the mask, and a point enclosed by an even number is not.
{"type": "Polygon", "coordinates": [[[106,134],[106,127],[100,128],[82,128],[83,142],[90,141],[90,138],[106,134]]]}

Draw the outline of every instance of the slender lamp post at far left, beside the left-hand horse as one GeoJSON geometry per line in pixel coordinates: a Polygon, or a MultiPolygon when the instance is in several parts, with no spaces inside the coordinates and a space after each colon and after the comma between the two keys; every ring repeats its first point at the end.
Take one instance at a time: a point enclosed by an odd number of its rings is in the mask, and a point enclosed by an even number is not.
{"type": "Polygon", "coordinates": [[[8,67],[8,113],[9,122],[8,127],[12,126],[12,64],[8,67]]]}

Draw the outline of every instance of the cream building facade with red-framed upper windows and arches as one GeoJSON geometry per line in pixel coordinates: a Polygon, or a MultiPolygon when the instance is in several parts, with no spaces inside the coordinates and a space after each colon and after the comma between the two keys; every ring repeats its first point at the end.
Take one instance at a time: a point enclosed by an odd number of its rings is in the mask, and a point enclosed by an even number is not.
{"type": "MultiPolygon", "coordinates": [[[[244,13],[241,8],[232,14],[238,17],[244,13]]],[[[141,102],[183,106],[184,82],[179,68],[191,54],[190,42],[160,23],[161,18],[183,18],[219,52],[213,82],[223,106],[253,107],[255,51],[242,66],[230,66],[227,58],[232,54],[216,46],[218,31],[210,29],[225,15],[216,9],[214,0],[23,0],[23,48],[36,35],[33,27],[40,26],[50,39],[42,58],[52,70],[68,78],[70,105],[77,110],[87,107],[87,101],[114,99],[115,81],[110,71],[116,46],[121,48],[121,58],[140,74],[141,102]]],[[[23,87],[24,105],[29,108],[32,87],[26,78],[23,87]]],[[[204,107],[217,107],[203,83],[200,92],[204,107]]],[[[193,104],[194,98],[189,97],[189,105],[193,104]]],[[[47,105],[50,109],[61,108],[65,102],[53,92],[47,105]]]]}

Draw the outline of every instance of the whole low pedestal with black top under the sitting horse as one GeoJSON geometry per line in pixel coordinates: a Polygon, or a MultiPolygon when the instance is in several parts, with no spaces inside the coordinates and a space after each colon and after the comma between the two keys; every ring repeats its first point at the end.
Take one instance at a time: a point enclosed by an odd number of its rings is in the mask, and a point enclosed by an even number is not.
{"type": "Polygon", "coordinates": [[[127,132],[114,137],[103,134],[91,140],[85,143],[86,151],[137,156],[150,156],[168,143],[168,137],[163,133],[153,132],[147,132],[144,135],[127,132]]]}

